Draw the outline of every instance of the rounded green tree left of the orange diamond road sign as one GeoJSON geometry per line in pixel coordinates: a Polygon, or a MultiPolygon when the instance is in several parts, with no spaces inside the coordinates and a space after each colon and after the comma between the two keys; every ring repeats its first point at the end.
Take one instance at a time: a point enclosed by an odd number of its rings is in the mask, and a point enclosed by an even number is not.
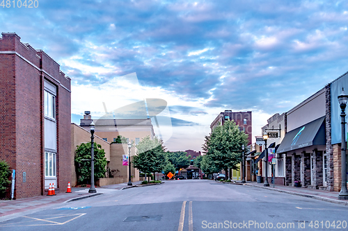
{"type": "Polygon", "coordinates": [[[157,137],[150,139],[150,136],[144,137],[141,139],[141,142],[136,145],[136,148],[136,155],[133,157],[133,160],[131,160],[134,168],[143,173],[149,173],[149,175],[150,173],[159,172],[164,169],[166,164],[166,156],[164,154],[166,147],[161,139],[157,137]]]}

